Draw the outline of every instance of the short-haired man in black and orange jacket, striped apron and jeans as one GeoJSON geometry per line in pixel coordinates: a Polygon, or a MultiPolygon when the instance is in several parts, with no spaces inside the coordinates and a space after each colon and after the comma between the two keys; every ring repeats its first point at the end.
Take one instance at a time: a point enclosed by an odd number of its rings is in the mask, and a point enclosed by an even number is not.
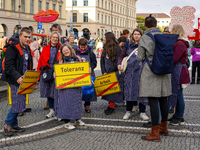
{"type": "Polygon", "coordinates": [[[19,85],[23,83],[23,75],[26,70],[32,70],[34,53],[28,46],[30,38],[30,29],[23,27],[19,36],[10,39],[10,45],[6,50],[5,70],[1,79],[10,85],[12,98],[12,107],[4,124],[4,135],[6,136],[12,136],[13,131],[25,131],[18,126],[17,116],[26,109],[26,95],[17,95],[17,92],[19,85]]]}

